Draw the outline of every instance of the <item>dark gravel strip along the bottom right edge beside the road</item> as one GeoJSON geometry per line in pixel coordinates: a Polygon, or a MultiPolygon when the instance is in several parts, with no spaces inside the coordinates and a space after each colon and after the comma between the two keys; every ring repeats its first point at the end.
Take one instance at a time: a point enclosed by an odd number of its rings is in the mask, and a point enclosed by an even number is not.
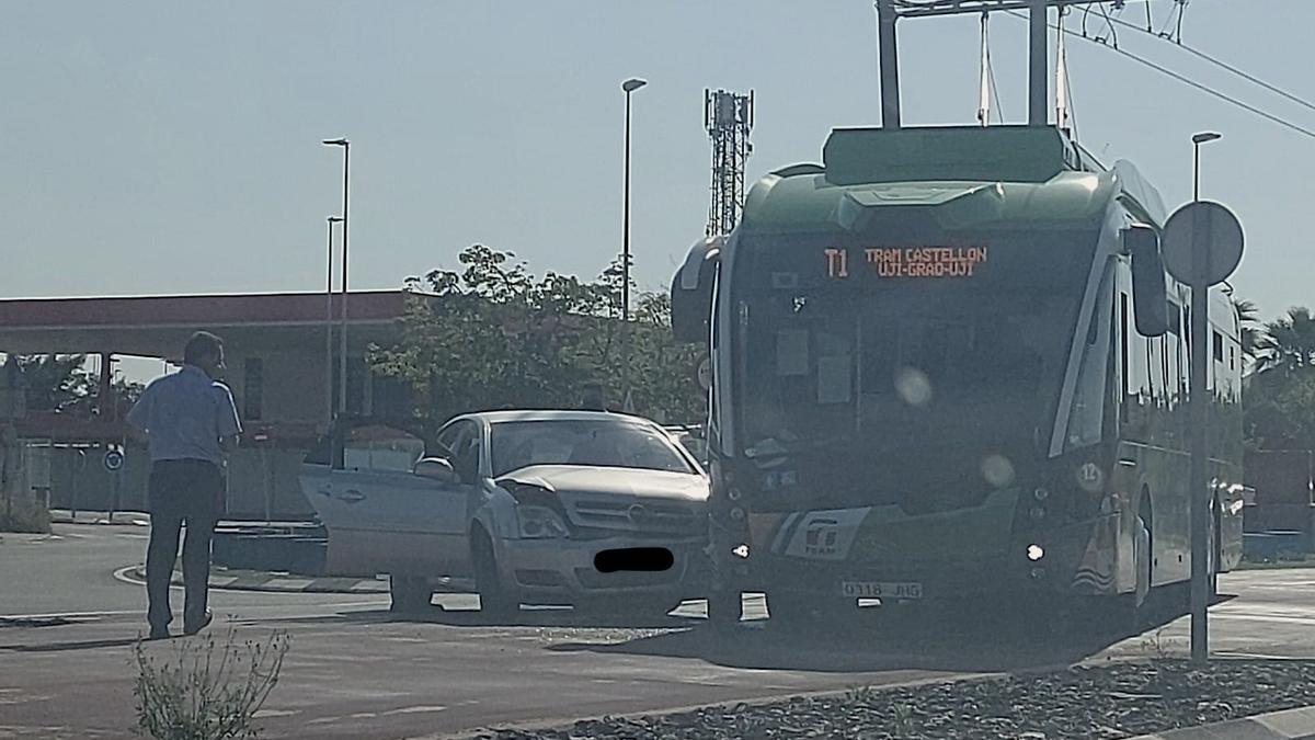
{"type": "Polygon", "coordinates": [[[1056,740],[1132,737],[1315,704],[1315,661],[1110,662],[843,697],[492,729],[477,740],[1056,740]]]}

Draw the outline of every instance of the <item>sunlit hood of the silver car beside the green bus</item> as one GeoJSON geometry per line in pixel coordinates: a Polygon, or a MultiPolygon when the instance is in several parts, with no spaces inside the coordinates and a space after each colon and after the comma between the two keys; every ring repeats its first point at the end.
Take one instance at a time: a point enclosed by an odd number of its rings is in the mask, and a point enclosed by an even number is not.
{"type": "Polygon", "coordinates": [[[500,477],[498,481],[514,481],[568,495],[617,495],[681,502],[706,502],[709,491],[707,478],[697,473],[671,473],[636,467],[531,465],[513,470],[500,477]]]}

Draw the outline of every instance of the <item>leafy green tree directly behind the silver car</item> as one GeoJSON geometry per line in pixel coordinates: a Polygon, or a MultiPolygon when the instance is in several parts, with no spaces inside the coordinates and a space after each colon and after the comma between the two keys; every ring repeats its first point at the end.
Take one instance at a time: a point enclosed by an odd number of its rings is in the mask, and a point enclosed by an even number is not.
{"type": "Polygon", "coordinates": [[[665,292],[631,284],[627,353],[619,261],[596,280],[535,275],[513,253],[484,245],[459,261],[459,270],[406,280],[414,299],[402,336],[370,354],[373,373],[410,388],[427,433],[467,411],[573,408],[588,383],[601,384],[622,410],[627,354],[634,412],[665,423],[702,420],[701,350],[672,337],[665,292]]]}

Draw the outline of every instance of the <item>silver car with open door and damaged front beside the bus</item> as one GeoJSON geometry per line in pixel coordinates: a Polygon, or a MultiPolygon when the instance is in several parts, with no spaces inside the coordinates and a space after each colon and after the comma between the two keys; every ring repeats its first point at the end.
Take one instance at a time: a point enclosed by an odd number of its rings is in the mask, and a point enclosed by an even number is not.
{"type": "Polygon", "coordinates": [[[396,611],[426,607],[441,577],[473,577],[501,616],[521,603],[665,614],[700,595],[709,482],[658,424],[469,413],[439,432],[442,457],[396,437],[375,429],[301,473],[326,570],[389,574],[396,611]]]}

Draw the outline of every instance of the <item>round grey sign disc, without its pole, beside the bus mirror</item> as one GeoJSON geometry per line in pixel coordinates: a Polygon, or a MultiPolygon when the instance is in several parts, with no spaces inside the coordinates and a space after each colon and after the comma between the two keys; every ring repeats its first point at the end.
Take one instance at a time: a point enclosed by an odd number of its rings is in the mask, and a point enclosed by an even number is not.
{"type": "Polygon", "coordinates": [[[1161,249],[1165,267],[1180,282],[1214,286],[1228,279],[1241,262],[1241,223],[1219,203],[1189,203],[1169,216],[1161,249]]]}

